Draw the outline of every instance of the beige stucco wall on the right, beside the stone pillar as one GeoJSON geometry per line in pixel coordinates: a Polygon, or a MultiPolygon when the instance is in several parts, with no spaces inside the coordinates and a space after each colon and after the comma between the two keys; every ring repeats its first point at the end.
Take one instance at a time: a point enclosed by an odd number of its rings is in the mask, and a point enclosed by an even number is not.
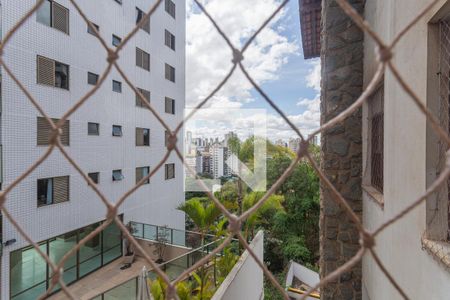
{"type": "MultiPolygon", "coordinates": [[[[366,1],[365,18],[386,41],[391,41],[431,0],[366,1]]],[[[393,63],[426,104],[428,22],[443,7],[441,1],[399,42],[393,63]]],[[[375,70],[374,44],[365,40],[365,85],[375,70]]],[[[436,74],[434,72],[433,74],[436,74]]],[[[432,74],[432,72],[430,72],[432,74]]],[[[428,99],[430,101],[430,99],[428,99]]],[[[392,74],[385,74],[384,209],[363,193],[364,225],[376,229],[411,204],[426,190],[426,119],[403,92],[392,74]]],[[[363,108],[363,153],[367,153],[367,106],[363,108]]],[[[363,157],[363,162],[367,162],[363,157]]],[[[426,203],[376,239],[376,252],[411,299],[450,299],[450,272],[422,249],[426,203]]],[[[364,299],[401,299],[373,259],[363,259],[364,299]]]]}

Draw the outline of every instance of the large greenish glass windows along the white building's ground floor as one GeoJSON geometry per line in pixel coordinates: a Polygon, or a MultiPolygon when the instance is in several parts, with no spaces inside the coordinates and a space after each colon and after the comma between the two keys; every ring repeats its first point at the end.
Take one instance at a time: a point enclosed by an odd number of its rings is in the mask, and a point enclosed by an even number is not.
{"type": "MultiPolygon", "coordinates": [[[[119,216],[123,220],[123,216],[119,216]]],[[[51,222],[51,221],[50,221],[51,222]]],[[[93,232],[103,222],[66,232],[38,243],[39,249],[58,262],[75,247],[87,234],[93,232]]],[[[91,273],[122,256],[122,234],[114,222],[106,226],[97,236],[80,247],[64,263],[64,281],[74,283],[87,273],[91,273]],[[87,255],[89,254],[89,255],[87,255]],[[79,259],[77,259],[79,258],[79,259]]],[[[52,282],[52,268],[33,246],[12,251],[9,260],[10,294],[8,299],[36,299],[45,293],[52,282]]],[[[60,288],[55,287],[52,292],[60,288]]]]}

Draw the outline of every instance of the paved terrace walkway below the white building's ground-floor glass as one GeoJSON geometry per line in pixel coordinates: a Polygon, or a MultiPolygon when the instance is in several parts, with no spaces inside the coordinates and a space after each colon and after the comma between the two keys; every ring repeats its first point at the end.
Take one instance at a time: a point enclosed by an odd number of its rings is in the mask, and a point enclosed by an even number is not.
{"type": "MultiPolygon", "coordinates": [[[[144,265],[147,267],[147,270],[150,269],[141,257],[136,257],[136,261],[128,269],[120,270],[122,265],[122,258],[119,258],[100,270],[95,271],[70,285],[70,291],[76,299],[89,300],[138,276],[144,265]]],[[[64,292],[58,292],[48,299],[65,300],[67,299],[67,295],[64,292]]]]}

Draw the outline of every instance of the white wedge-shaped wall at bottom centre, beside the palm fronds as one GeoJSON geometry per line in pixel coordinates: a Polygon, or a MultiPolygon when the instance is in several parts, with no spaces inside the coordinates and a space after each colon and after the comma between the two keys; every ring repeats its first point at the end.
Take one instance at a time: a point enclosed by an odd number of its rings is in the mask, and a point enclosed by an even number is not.
{"type": "MultiPolygon", "coordinates": [[[[264,256],[264,232],[259,231],[251,249],[262,261],[264,256]]],[[[222,285],[217,289],[212,300],[260,300],[264,298],[264,273],[253,257],[245,251],[222,285]]]]}

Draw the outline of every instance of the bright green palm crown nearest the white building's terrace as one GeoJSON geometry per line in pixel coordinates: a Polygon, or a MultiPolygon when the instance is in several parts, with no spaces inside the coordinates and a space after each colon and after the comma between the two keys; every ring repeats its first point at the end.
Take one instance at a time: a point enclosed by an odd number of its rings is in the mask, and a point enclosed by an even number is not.
{"type": "Polygon", "coordinates": [[[217,218],[220,216],[220,209],[214,203],[207,203],[200,198],[192,198],[178,207],[183,211],[197,227],[200,233],[202,246],[205,242],[205,236],[213,228],[217,218]]]}

